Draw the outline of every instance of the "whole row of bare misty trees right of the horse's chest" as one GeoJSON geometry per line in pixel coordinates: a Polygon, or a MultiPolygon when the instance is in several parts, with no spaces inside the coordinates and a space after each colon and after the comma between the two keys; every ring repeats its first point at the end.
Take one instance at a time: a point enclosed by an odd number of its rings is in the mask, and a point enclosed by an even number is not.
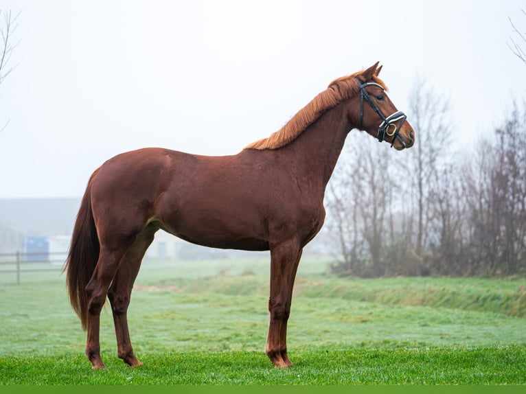
{"type": "Polygon", "coordinates": [[[526,106],[455,150],[448,100],[413,86],[407,152],[352,132],[328,185],[326,229],[342,275],[526,273],[526,106]]]}

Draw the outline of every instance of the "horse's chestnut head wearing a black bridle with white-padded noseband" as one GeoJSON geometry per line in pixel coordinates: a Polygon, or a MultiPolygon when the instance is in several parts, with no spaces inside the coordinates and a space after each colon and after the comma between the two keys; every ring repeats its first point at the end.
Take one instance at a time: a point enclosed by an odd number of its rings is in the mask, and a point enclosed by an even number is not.
{"type": "Polygon", "coordinates": [[[396,150],[411,148],[415,143],[415,131],[402,111],[389,100],[385,84],[378,78],[382,66],[378,62],[365,71],[355,73],[358,94],[350,99],[350,119],[352,124],[378,141],[387,141],[396,150]]]}

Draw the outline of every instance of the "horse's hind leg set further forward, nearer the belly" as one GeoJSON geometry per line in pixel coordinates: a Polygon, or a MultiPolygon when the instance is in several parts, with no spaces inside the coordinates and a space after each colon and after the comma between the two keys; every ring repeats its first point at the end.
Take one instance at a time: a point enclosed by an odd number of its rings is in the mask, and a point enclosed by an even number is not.
{"type": "Polygon", "coordinates": [[[113,323],[115,323],[115,336],[117,336],[117,354],[130,367],[140,367],[142,363],[133,354],[128,329],[128,305],[130,305],[133,283],[139,273],[142,258],[152,243],[156,230],[146,229],[137,236],[137,240],[122,258],[108,292],[108,299],[113,312],[113,323]]]}

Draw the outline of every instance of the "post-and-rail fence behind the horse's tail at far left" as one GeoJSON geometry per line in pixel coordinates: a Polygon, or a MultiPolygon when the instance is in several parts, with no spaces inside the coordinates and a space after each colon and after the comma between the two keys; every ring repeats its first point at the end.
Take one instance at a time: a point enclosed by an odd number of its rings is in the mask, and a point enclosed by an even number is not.
{"type": "Polygon", "coordinates": [[[45,273],[60,271],[66,253],[0,253],[0,275],[16,274],[16,284],[20,284],[25,273],[45,273]]]}

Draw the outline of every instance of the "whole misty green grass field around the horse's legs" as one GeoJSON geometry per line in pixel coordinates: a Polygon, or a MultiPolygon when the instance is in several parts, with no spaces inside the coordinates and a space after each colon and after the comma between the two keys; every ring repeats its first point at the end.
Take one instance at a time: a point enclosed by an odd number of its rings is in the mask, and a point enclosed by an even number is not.
{"type": "Polygon", "coordinates": [[[135,354],[91,371],[58,270],[0,275],[0,384],[526,384],[526,280],[340,279],[301,262],[288,329],[295,366],[264,355],[268,257],[145,261],[129,311],[135,354]]]}

